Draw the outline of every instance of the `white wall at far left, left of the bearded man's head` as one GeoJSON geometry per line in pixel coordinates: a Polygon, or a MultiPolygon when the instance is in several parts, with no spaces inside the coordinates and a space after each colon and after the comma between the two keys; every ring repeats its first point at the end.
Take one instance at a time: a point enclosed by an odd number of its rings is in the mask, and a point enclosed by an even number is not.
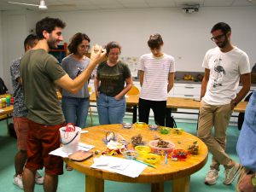
{"type": "Polygon", "coordinates": [[[31,34],[30,30],[35,28],[36,22],[40,20],[40,14],[30,10],[2,11],[3,27],[3,56],[0,55],[0,70],[3,70],[3,80],[13,93],[10,79],[9,67],[15,59],[24,54],[24,40],[27,35],[31,34]],[[3,59],[3,65],[1,65],[3,59]]]}

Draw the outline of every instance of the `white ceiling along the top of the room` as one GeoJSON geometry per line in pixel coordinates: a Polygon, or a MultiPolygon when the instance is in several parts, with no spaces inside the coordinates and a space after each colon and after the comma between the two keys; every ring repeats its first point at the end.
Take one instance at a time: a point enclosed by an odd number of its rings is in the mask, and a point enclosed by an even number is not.
{"type": "MultiPolygon", "coordinates": [[[[10,4],[11,2],[39,4],[40,0],[0,0],[0,10],[30,9],[40,12],[38,7],[10,4]]],[[[75,7],[48,8],[46,12],[96,10],[96,9],[137,9],[137,8],[185,8],[188,3],[200,7],[249,7],[247,0],[45,0],[46,5],[75,4],[75,7]]]]}

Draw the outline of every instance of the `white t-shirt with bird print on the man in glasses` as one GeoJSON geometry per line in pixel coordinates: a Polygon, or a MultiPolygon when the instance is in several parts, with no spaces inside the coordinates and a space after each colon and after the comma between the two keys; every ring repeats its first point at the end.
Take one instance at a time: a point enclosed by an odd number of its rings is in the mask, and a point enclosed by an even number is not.
{"type": "Polygon", "coordinates": [[[236,98],[241,74],[250,73],[247,54],[235,47],[223,53],[218,47],[205,55],[202,67],[210,69],[207,92],[202,98],[209,105],[226,105],[236,98]]]}

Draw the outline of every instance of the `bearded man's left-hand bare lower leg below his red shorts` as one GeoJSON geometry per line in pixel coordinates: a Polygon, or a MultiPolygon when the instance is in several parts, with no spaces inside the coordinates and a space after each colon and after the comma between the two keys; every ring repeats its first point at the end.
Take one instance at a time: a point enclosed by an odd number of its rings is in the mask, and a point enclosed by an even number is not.
{"type": "Polygon", "coordinates": [[[33,192],[35,187],[35,174],[36,170],[24,169],[23,172],[23,186],[25,192],[33,192]]]}

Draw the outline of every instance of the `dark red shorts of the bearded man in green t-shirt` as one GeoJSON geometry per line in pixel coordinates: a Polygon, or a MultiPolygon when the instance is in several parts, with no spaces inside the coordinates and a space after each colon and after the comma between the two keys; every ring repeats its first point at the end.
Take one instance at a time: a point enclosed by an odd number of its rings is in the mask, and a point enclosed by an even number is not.
{"type": "Polygon", "coordinates": [[[49,153],[56,148],[60,148],[59,129],[65,126],[65,122],[55,126],[38,124],[29,119],[27,119],[27,122],[27,160],[25,167],[30,170],[39,170],[45,167],[45,173],[48,175],[63,174],[63,160],[60,156],[49,153]]]}

